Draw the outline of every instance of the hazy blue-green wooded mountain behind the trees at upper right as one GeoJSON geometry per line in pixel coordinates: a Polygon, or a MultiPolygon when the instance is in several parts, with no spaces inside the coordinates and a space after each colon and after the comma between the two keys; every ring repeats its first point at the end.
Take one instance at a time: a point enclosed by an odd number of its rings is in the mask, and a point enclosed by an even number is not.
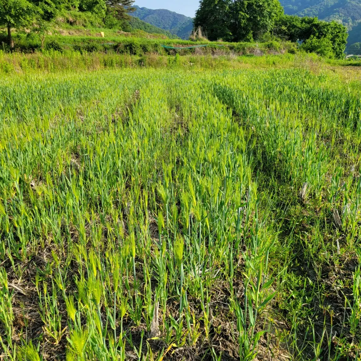
{"type": "Polygon", "coordinates": [[[280,0],[290,15],[341,21],[349,30],[348,43],[361,42],[361,0],[280,0]]]}

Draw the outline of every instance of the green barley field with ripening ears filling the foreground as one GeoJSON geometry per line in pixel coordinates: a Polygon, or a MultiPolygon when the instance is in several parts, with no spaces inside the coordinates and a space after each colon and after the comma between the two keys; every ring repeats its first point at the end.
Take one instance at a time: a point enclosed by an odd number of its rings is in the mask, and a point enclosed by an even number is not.
{"type": "Polygon", "coordinates": [[[1,360],[360,360],[361,83],[0,79],[1,360]]]}

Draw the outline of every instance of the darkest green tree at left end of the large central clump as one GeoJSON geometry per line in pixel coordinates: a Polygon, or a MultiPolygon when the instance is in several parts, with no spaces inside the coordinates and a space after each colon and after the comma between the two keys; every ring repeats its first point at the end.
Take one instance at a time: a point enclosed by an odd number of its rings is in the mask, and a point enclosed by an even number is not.
{"type": "Polygon", "coordinates": [[[194,26],[201,26],[209,40],[231,40],[230,26],[231,0],[201,0],[196,12],[194,26]]]}

